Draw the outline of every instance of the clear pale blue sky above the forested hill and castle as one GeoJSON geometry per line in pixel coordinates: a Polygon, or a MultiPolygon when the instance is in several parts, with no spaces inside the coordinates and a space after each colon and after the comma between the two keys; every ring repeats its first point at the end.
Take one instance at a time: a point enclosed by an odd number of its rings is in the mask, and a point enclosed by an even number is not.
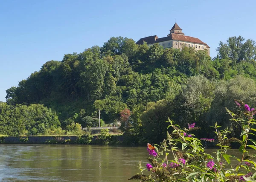
{"type": "Polygon", "coordinates": [[[0,101],[50,60],[111,37],[169,34],[175,20],[216,56],[231,36],[256,40],[255,0],[6,0],[0,3],[0,101]]]}

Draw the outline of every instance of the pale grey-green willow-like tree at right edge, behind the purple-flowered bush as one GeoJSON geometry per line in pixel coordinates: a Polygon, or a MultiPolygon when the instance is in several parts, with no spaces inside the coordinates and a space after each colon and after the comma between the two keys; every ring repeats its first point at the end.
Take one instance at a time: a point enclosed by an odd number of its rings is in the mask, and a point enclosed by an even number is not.
{"type": "MultiPolygon", "coordinates": [[[[251,78],[237,75],[229,81],[220,81],[214,92],[215,98],[212,101],[212,107],[208,115],[209,125],[213,125],[216,121],[224,128],[229,126],[230,131],[234,130],[228,121],[226,107],[229,110],[235,110],[235,99],[253,105],[256,103],[256,85],[251,78]]],[[[234,133],[233,133],[234,134],[234,133]]]]}

